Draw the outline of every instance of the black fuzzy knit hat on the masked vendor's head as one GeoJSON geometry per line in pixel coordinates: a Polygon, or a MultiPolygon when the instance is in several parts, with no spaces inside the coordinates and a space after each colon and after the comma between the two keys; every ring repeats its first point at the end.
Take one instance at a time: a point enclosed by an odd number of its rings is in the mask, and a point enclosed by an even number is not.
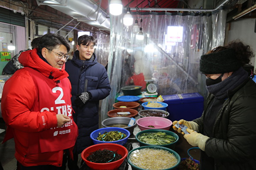
{"type": "Polygon", "coordinates": [[[204,54],[200,58],[200,72],[203,74],[219,74],[232,72],[242,66],[236,58],[233,48],[228,48],[216,53],[204,54]]]}

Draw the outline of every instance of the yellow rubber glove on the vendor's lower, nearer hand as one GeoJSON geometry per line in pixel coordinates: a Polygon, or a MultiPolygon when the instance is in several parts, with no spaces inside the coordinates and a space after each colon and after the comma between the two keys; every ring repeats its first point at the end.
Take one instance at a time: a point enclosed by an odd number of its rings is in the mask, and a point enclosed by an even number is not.
{"type": "Polygon", "coordinates": [[[184,134],[184,138],[192,146],[198,146],[201,150],[204,151],[205,142],[210,138],[203,134],[197,133],[194,130],[187,129],[189,134],[184,134]]]}

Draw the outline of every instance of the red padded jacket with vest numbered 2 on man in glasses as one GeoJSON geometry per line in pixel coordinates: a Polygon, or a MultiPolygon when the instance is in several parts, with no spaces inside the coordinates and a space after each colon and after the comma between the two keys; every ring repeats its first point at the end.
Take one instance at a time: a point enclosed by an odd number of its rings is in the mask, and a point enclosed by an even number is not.
{"type": "Polygon", "coordinates": [[[2,94],[4,141],[14,137],[15,158],[23,166],[61,166],[64,149],[71,151],[78,136],[68,73],[43,61],[36,49],[22,53],[19,61],[24,68],[5,83],[2,94]],[[58,128],[56,114],[71,121],[58,128]]]}

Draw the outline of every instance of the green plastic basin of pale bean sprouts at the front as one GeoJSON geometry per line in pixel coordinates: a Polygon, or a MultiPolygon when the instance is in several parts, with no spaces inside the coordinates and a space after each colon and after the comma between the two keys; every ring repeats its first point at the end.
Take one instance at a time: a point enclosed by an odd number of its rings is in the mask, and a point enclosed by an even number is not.
{"type": "MultiPolygon", "coordinates": [[[[177,160],[177,161],[175,161],[176,163],[174,163],[174,165],[170,168],[165,168],[165,169],[161,169],[161,170],[175,170],[181,162],[181,156],[179,156],[179,154],[177,152],[173,151],[170,148],[166,148],[166,147],[162,147],[162,146],[141,146],[139,148],[132,149],[130,152],[128,152],[127,160],[128,160],[128,163],[132,166],[132,170],[147,170],[147,169],[143,169],[141,167],[134,165],[134,163],[132,163],[133,161],[131,161],[131,156],[134,152],[137,152],[136,155],[138,156],[138,159],[143,159],[143,157],[145,157],[145,156],[142,156],[141,154],[139,154],[139,151],[144,148],[153,148],[153,149],[158,149],[158,150],[162,149],[164,151],[168,151],[173,154],[174,159],[177,160]]],[[[147,153],[146,160],[144,159],[145,161],[140,161],[140,164],[143,164],[143,165],[146,164],[149,166],[155,166],[156,164],[158,164],[159,166],[162,166],[163,160],[159,160],[159,159],[165,158],[165,156],[162,154],[161,155],[156,155],[156,154],[157,154],[156,152],[147,153]]],[[[171,161],[170,159],[167,159],[168,163],[170,161],[171,161]]]]}

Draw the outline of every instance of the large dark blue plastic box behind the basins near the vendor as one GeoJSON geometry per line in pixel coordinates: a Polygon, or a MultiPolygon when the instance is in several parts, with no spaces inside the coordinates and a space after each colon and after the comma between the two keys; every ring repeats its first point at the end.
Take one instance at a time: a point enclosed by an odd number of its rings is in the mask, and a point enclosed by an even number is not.
{"type": "Polygon", "coordinates": [[[168,104],[167,112],[171,121],[184,119],[191,121],[203,113],[203,96],[199,93],[164,95],[162,98],[168,104]]]}

